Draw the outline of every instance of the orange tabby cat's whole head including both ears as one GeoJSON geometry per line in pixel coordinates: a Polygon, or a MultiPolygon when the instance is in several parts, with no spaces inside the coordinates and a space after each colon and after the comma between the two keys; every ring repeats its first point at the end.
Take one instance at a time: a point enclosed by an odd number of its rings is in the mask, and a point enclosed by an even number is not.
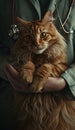
{"type": "Polygon", "coordinates": [[[23,42],[35,54],[42,54],[56,39],[56,28],[52,21],[52,14],[47,12],[40,21],[25,22],[19,20],[24,29],[22,31],[23,42]]]}

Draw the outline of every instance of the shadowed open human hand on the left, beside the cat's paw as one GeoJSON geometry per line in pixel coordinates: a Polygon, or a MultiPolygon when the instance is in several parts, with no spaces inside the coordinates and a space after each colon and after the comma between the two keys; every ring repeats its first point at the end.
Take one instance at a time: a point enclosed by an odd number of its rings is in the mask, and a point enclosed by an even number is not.
{"type": "Polygon", "coordinates": [[[15,90],[29,92],[28,85],[20,79],[19,72],[12,65],[8,64],[4,71],[15,90]]]}

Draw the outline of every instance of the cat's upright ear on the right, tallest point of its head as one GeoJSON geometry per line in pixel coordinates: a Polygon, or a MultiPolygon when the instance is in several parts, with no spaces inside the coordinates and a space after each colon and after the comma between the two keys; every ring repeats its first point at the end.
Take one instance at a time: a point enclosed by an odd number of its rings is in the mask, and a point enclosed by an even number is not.
{"type": "Polygon", "coordinates": [[[46,12],[46,14],[44,15],[44,17],[42,18],[41,22],[43,24],[47,23],[47,22],[53,22],[54,18],[53,18],[53,14],[51,10],[48,10],[46,12]]]}

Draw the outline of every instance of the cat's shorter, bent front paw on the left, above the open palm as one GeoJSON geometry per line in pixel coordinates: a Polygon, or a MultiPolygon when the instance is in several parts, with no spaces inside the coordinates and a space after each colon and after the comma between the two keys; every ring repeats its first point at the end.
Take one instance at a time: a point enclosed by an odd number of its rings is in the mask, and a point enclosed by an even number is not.
{"type": "Polygon", "coordinates": [[[35,65],[31,61],[28,61],[21,67],[20,70],[21,79],[26,83],[32,83],[34,71],[35,71],[35,65]]]}

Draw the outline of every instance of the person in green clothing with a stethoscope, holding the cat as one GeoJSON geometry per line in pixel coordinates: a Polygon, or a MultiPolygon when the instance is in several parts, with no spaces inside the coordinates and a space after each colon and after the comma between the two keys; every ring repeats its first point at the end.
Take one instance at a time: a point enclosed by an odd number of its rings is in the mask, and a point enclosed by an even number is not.
{"type": "MultiPolygon", "coordinates": [[[[2,106],[7,107],[12,100],[12,89],[11,85],[15,89],[24,88],[24,92],[28,91],[26,86],[19,79],[19,73],[14,68],[11,57],[11,48],[15,44],[8,36],[8,32],[11,24],[14,24],[14,10],[15,15],[25,19],[27,21],[40,20],[47,10],[53,12],[54,23],[59,32],[65,37],[67,41],[67,56],[69,68],[61,74],[59,78],[49,77],[45,86],[44,91],[63,91],[66,96],[71,100],[75,99],[75,0],[1,0],[0,2],[0,91],[3,100],[2,106]],[[15,2],[15,6],[13,6],[15,2]],[[13,4],[13,5],[12,5],[13,4]],[[4,7],[4,8],[3,8],[4,7]],[[4,11],[6,10],[6,11],[4,11]],[[8,18],[7,18],[8,16],[8,18]],[[6,67],[6,70],[4,71],[6,67]],[[6,73],[5,73],[6,72],[6,73]],[[10,81],[10,82],[9,82],[10,81]],[[6,98],[7,97],[7,98],[6,98]]],[[[2,100],[0,98],[0,101],[2,100]]],[[[1,109],[2,111],[2,109],[1,109]]],[[[4,110],[5,111],[5,110],[4,110]]],[[[5,112],[6,113],[6,112],[5,112]]],[[[7,112],[9,113],[9,112],[7,112]]],[[[3,117],[3,115],[2,115],[3,117]]],[[[10,117],[9,117],[10,118],[10,117]]]]}

